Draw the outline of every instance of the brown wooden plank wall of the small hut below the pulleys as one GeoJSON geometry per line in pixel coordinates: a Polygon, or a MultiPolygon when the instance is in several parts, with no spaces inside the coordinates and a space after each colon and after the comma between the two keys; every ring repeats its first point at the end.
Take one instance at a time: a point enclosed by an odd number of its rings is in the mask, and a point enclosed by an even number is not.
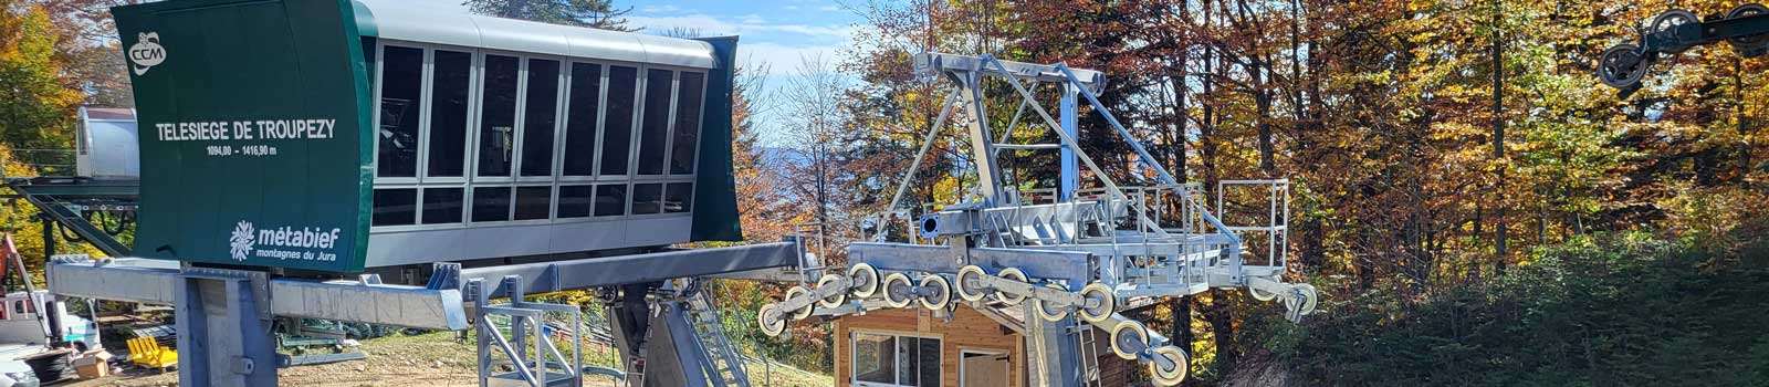
{"type": "Polygon", "coordinates": [[[1008,353],[1008,385],[1021,387],[1026,380],[1026,341],[1001,323],[989,320],[969,306],[959,306],[952,322],[932,316],[932,311],[879,309],[865,316],[844,316],[835,320],[835,385],[851,387],[853,378],[853,332],[902,334],[939,339],[941,387],[959,387],[959,352],[989,350],[1008,353]]]}

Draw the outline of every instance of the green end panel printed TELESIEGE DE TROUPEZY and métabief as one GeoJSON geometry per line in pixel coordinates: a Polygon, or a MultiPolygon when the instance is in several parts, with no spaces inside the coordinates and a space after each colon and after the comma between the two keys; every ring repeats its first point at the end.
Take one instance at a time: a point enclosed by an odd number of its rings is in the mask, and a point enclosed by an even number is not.
{"type": "Polygon", "coordinates": [[[111,11],[142,125],[134,254],[361,272],[373,143],[352,4],[111,11]]]}

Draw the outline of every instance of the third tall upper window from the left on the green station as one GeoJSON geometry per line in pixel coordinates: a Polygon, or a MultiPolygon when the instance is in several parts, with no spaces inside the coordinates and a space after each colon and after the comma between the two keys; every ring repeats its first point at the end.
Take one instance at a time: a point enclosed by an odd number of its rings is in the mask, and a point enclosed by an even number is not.
{"type": "Polygon", "coordinates": [[[479,101],[483,108],[479,110],[478,173],[481,177],[509,177],[511,173],[520,64],[515,57],[485,55],[485,94],[479,101]]]}

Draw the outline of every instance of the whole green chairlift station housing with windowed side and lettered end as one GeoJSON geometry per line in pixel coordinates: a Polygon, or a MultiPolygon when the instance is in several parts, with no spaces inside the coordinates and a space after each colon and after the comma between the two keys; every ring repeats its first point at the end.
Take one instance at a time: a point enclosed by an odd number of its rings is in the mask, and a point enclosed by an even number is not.
{"type": "Polygon", "coordinates": [[[348,274],[741,239],[736,37],[389,0],[113,12],[140,120],[134,256],[348,274]]]}

